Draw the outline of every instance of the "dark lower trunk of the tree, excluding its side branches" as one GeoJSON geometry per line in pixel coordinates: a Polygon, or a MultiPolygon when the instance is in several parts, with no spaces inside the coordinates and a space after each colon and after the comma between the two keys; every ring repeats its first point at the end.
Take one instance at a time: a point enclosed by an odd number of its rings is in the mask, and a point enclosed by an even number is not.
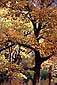
{"type": "Polygon", "coordinates": [[[40,52],[39,52],[39,51],[35,51],[35,69],[34,69],[33,85],[36,85],[36,81],[39,82],[39,78],[40,78],[40,69],[41,69],[41,57],[40,57],[40,52]]]}

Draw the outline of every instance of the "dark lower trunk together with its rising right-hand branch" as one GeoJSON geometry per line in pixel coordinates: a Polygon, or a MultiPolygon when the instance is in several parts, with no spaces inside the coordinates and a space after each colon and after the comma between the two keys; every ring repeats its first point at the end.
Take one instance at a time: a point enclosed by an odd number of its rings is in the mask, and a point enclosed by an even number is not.
{"type": "Polygon", "coordinates": [[[47,59],[49,59],[53,55],[53,53],[47,57],[42,58],[39,51],[35,50],[34,52],[35,52],[35,68],[34,68],[33,85],[36,85],[36,81],[39,82],[40,78],[41,64],[47,59]]]}

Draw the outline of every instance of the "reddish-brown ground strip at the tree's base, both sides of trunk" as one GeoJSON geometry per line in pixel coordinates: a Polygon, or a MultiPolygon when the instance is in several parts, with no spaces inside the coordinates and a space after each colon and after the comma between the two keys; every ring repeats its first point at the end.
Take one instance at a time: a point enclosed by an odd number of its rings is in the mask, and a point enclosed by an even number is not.
{"type": "MultiPolygon", "coordinates": [[[[33,85],[31,81],[29,81],[27,84],[26,83],[22,83],[19,81],[11,81],[11,82],[5,82],[5,83],[1,83],[0,85],[33,85]]],[[[48,80],[41,80],[39,83],[36,83],[36,85],[49,85],[48,80]]],[[[51,85],[55,85],[54,82],[51,82],[51,85]]]]}

